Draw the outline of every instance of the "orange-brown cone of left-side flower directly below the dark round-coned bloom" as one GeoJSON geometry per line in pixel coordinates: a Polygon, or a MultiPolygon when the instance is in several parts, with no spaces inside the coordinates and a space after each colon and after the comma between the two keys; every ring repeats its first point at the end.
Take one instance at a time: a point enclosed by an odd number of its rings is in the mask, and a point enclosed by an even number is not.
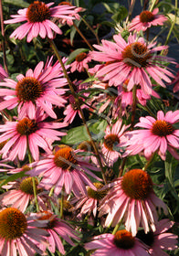
{"type": "Polygon", "coordinates": [[[21,135],[29,135],[37,131],[37,123],[35,120],[31,120],[27,117],[23,118],[16,124],[16,131],[21,135]]]}

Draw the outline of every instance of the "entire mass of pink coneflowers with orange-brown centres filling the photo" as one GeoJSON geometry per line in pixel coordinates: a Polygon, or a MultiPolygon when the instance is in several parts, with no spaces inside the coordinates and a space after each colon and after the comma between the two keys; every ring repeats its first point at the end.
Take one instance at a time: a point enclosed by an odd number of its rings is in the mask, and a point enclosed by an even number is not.
{"type": "MultiPolygon", "coordinates": [[[[25,23],[10,37],[31,42],[40,36],[53,45],[56,34],[62,34],[58,25],[73,26],[82,8],[68,2],[51,5],[35,1],[12,15],[5,24],[25,23]]],[[[174,81],[174,92],[179,91],[179,76],[163,65],[176,61],[159,55],[168,47],[140,36],[152,26],[163,26],[167,18],[158,12],[143,11],[129,23],[127,39],[121,34],[103,39],[93,46],[97,50],[80,53],[71,64],[68,58],[57,55],[54,63],[55,57],[48,57],[16,80],[0,67],[0,111],[5,118],[0,125],[0,171],[11,177],[3,182],[6,191],[0,196],[0,255],[56,250],[64,255],[62,240],[71,246],[80,242],[78,221],[85,215],[90,225],[99,219],[110,230],[83,245],[89,255],[164,256],[168,254],[163,250],[177,248],[174,221],[155,195],[147,168],[154,155],[161,161],[167,154],[179,159],[179,110],[158,110],[138,123],[135,116],[136,101],[146,106],[152,97],[160,99],[156,85],[165,88],[174,81]],[[68,74],[77,71],[88,71],[93,81],[71,82],[68,74]],[[90,90],[96,94],[91,96],[90,90]],[[63,110],[61,119],[58,109],[63,110]],[[78,115],[89,131],[84,109],[91,116],[98,112],[107,123],[100,142],[89,134],[89,141],[77,148],[60,144],[78,115]],[[143,169],[124,168],[132,155],[145,159],[143,169]],[[119,161],[118,177],[108,179],[104,169],[112,172],[119,161]],[[65,204],[71,218],[65,215],[65,204]],[[69,225],[68,219],[75,219],[76,225],[69,225]]]]}

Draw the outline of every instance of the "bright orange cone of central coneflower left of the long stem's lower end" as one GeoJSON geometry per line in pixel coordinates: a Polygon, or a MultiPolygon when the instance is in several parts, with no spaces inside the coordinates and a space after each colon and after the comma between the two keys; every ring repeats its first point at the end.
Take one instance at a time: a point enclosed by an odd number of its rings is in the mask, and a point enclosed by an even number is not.
{"type": "Polygon", "coordinates": [[[75,154],[71,147],[65,146],[55,153],[54,155],[54,163],[58,167],[61,167],[63,170],[70,170],[73,165],[77,165],[78,161],[75,158],[75,154]]]}

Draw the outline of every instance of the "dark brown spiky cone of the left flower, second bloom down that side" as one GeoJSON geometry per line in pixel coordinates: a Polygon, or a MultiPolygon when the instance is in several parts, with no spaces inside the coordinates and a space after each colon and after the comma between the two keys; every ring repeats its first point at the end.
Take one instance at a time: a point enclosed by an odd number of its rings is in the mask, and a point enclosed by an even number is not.
{"type": "Polygon", "coordinates": [[[26,77],[16,84],[16,97],[19,101],[32,101],[35,103],[43,92],[43,86],[35,78],[26,77]]]}

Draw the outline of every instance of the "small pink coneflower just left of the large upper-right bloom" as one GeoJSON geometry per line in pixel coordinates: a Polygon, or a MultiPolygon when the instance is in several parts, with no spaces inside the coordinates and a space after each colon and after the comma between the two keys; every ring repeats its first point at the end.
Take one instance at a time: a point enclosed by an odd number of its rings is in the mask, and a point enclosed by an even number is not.
{"type": "Polygon", "coordinates": [[[84,72],[85,69],[89,69],[87,64],[91,60],[91,57],[86,52],[81,52],[77,55],[75,61],[70,64],[71,72],[79,71],[84,72]]]}

